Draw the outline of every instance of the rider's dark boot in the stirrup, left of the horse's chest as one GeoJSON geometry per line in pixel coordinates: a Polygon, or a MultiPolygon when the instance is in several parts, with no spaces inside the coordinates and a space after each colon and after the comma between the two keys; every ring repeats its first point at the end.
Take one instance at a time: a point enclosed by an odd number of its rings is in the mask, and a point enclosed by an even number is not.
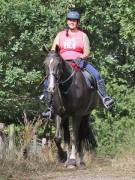
{"type": "MultiPolygon", "coordinates": [[[[42,113],[42,116],[44,118],[49,118],[52,119],[54,116],[54,108],[53,108],[53,101],[52,101],[52,95],[50,95],[48,92],[43,95],[40,96],[42,99],[44,98],[46,101],[46,105],[47,105],[47,110],[45,112],[42,113]]],[[[40,98],[40,100],[42,100],[40,98]]]]}

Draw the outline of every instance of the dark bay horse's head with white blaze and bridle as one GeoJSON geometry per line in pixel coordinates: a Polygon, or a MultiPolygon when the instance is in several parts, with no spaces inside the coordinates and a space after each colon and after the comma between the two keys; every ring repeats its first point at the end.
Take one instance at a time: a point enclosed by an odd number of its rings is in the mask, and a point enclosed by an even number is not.
{"type": "Polygon", "coordinates": [[[62,59],[55,51],[50,51],[44,60],[46,74],[48,76],[48,92],[53,93],[55,84],[63,73],[62,59]]]}

